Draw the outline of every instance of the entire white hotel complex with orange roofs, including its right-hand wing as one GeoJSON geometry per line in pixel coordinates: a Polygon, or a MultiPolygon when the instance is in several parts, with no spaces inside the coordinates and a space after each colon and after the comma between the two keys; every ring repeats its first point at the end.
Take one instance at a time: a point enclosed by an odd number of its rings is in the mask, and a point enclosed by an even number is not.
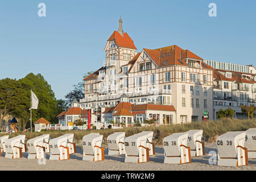
{"type": "Polygon", "coordinates": [[[176,45],[137,52],[121,18],[104,51],[102,67],[84,79],[79,103],[82,110],[92,109],[95,122],[187,123],[202,121],[205,110],[208,119],[216,119],[228,107],[242,118],[239,105],[255,104],[253,65],[204,60],[176,45]]]}

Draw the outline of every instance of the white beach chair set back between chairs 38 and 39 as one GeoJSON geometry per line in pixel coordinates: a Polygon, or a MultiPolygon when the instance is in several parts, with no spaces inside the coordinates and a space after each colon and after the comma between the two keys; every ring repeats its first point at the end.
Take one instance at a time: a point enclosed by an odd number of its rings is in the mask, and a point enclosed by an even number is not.
{"type": "Polygon", "coordinates": [[[187,146],[192,157],[205,155],[204,142],[202,142],[203,130],[189,130],[187,146]]]}

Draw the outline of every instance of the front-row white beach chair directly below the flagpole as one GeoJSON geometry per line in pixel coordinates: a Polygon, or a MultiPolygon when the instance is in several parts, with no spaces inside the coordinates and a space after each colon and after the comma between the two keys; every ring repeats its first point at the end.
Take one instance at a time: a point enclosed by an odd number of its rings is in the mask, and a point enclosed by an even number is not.
{"type": "Polygon", "coordinates": [[[44,152],[46,148],[44,147],[44,141],[49,139],[49,134],[41,135],[27,140],[28,149],[28,159],[42,159],[46,158],[44,152]]]}

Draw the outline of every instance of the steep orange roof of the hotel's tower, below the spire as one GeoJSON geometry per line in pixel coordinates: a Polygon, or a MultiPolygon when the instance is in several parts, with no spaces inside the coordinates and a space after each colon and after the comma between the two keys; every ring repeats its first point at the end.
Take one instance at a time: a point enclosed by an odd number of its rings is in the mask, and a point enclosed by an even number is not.
{"type": "Polygon", "coordinates": [[[108,41],[115,40],[115,43],[118,47],[125,47],[130,49],[137,49],[134,46],[133,40],[130,38],[130,36],[127,33],[124,33],[123,36],[119,34],[118,31],[114,31],[113,34],[110,36],[108,41]]]}

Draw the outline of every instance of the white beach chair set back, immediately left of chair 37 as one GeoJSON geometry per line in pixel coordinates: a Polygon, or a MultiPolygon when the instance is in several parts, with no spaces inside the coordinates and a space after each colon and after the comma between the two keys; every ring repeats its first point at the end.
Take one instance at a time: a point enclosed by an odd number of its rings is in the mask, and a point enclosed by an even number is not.
{"type": "Polygon", "coordinates": [[[115,132],[107,138],[108,155],[125,154],[125,132],[115,132]]]}

